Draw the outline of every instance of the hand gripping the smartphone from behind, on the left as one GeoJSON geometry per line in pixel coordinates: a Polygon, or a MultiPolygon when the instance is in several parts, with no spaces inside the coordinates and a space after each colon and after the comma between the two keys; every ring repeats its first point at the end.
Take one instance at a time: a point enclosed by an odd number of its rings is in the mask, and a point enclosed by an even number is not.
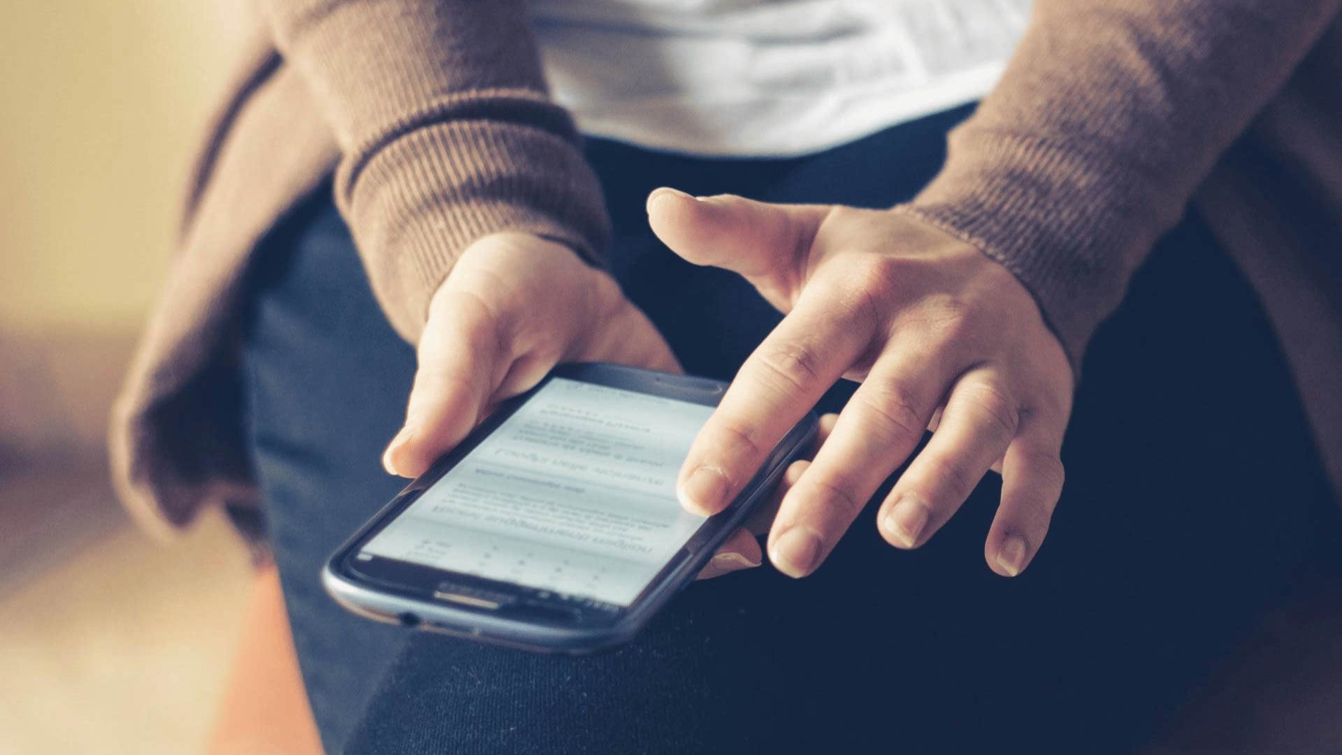
{"type": "MultiPolygon", "coordinates": [[[[382,455],[382,466],[401,477],[423,474],[494,404],[531,388],[560,361],[680,372],[662,335],[615,278],[561,243],[522,232],[491,234],[463,250],[417,336],[405,423],[382,455]]],[[[743,531],[718,555],[705,576],[758,566],[764,558],[743,531]]]]}

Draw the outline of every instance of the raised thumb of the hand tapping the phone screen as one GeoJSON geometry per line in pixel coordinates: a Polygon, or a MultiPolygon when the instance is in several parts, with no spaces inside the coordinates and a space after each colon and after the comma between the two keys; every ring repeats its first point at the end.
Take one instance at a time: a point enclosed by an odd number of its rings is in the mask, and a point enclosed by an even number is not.
{"type": "Polygon", "coordinates": [[[695,197],[666,187],[648,195],[648,224],[671,251],[695,265],[739,273],[757,286],[797,279],[828,212],[823,204],[695,197]]]}

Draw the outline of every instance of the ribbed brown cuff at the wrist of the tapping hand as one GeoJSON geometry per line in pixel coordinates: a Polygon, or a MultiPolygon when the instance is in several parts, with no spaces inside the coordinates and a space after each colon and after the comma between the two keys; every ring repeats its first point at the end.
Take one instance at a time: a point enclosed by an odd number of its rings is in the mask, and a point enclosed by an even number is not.
{"type": "MultiPolygon", "coordinates": [[[[1039,140],[953,133],[946,168],[895,210],[973,245],[1031,292],[1074,375],[1155,238],[1131,171],[1039,140]],[[972,149],[972,152],[970,152],[972,149]]],[[[1147,197],[1149,199],[1149,197],[1147,197]]]]}

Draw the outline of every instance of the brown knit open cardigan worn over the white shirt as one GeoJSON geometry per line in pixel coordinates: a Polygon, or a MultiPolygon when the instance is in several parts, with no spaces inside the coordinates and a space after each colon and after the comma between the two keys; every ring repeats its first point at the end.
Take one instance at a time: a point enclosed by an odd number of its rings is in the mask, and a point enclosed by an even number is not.
{"type": "MultiPolygon", "coordinates": [[[[472,239],[522,230],[593,263],[607,243],[522,0],[260,4],[113,418],[119,490],[158,532],[208,504],[255,504],[231,388],[242,273],[331,169],[378,301],[411,341],[472,239]]],[[[1078,365],[1154,240],[1197,203],[1263,298],[1342,482],[1339,12],[1342,0],[1037,0],[1001,83],[900,211],[1016,274],[1078,365]]]]}

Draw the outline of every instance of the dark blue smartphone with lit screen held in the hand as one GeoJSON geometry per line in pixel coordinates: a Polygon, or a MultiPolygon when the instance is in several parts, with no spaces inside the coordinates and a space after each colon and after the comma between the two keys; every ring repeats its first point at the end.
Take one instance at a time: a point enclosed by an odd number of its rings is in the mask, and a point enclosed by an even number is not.
{"type": "Polygon", "coordinates": [[[809,412],[735,501],[680,508],[675,478],[718,380],[566,364],[503,402],[327,562],[322,582],[380,621],[550,653],[628,641],[809,445],[809,412]]]}

